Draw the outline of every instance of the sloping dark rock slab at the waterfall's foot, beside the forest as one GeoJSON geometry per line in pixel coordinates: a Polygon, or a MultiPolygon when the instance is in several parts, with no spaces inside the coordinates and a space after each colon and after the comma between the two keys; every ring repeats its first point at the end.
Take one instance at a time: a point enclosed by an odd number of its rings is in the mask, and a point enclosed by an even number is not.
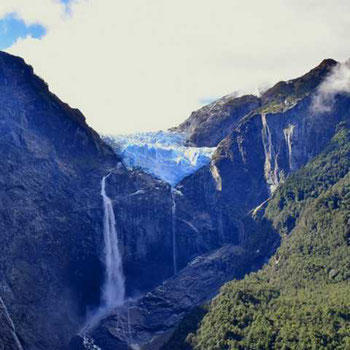
{"type": "Polygon", "coordinates": [[[247,266],[258,268],[261,260],[261,254],[232,245],[197,257],[138,301],[115,310],[85,338],[76,337],[70,348],[159,349],[187,312],[213,298],[225,282],[242,278],[247,266]]]}

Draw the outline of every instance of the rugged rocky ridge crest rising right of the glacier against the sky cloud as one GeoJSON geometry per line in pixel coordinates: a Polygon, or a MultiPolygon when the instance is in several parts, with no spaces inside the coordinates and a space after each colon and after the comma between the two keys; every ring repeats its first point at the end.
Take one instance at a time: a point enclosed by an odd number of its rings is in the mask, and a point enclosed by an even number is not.
{"type": "Polygon", "coordinates": [[[255,111],[275,112],[292,107],[297,101],[315,92],[328,73],[337,65],[326,59],[300,78],[281,81],[261,97],[227,95],[195,111],[171,130],[189,134],[188,142],[197,146],[217,146],[238,126],[240,120],[255,111]]]}

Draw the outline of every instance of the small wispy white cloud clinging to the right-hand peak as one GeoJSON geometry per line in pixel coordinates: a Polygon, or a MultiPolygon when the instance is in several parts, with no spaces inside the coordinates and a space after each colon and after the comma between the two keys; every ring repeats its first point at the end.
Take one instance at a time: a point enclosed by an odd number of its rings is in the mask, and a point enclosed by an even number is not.
{"type": "Polygon", "coordinates": [[[330,112],[337,94],[350,94],[350,60],[338,64],[324,80],[312,101],[316,113],[330,112]]]}

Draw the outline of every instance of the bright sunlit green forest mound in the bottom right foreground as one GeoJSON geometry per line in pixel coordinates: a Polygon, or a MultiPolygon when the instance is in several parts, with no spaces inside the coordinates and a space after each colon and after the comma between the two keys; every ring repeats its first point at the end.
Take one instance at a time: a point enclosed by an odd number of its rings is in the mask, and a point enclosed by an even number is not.
{"type": "Polygon", "coordinates": [[[350,286],[274,288],[257,276],[227,284],[211,305],[195,349],[349,349],[350,286]]]}

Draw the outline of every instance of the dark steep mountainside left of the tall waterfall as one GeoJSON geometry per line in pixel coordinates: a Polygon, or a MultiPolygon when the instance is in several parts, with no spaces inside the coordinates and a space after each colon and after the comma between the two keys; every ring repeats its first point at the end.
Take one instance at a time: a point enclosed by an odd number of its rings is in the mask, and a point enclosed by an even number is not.
{"type": "Polygon", "coordinates": [[[5,53],[0,105],[1,314],[23,348],[58,349],[99,302],[98,188],[118,159],[78,110],[5,53]]]}

